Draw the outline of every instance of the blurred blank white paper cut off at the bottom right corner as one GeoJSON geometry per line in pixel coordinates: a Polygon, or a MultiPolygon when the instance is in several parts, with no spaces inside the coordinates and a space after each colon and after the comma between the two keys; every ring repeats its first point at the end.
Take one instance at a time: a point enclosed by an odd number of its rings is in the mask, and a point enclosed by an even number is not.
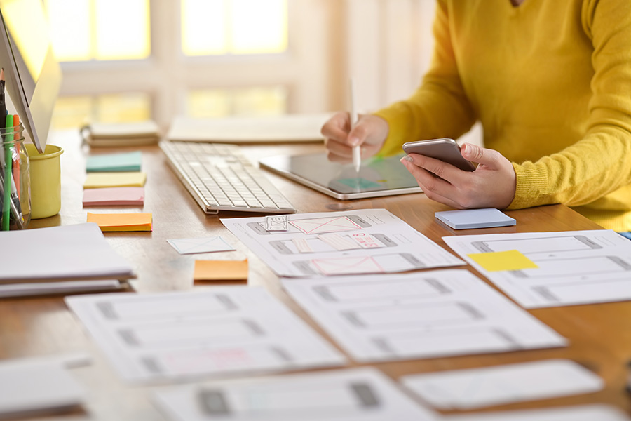
{"type": "Polygon", "coordinates": [[[606,405],[568,406],[565,408],[513,410],[477,413],[442,418],[444,421],[629,421],[618,408],[606,405]]]}

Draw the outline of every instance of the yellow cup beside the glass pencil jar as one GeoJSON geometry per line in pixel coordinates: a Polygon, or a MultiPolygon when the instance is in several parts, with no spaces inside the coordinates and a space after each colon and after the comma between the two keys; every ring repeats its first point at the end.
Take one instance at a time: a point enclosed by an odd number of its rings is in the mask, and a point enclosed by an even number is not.
{"type": "Polygon", "coordinates": [[[60,155],[64,149],[46,145],[40,154],[35,145],[25,145],[29,154],[31,175],[31,219],[48,218],[61,208],[60,155]]]}

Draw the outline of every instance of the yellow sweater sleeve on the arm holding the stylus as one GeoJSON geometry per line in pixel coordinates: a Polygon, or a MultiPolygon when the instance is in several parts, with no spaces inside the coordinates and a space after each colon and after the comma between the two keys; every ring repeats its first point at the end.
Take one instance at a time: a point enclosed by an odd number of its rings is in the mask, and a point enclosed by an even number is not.
{"type": "Polygon", "coordinates": [[[456,66],[446,0],[437,1],[433,33],[433,60],[421,86],[407,100],[375,113],[389,127],[381,155],[401,152],[404,142],[459,138],[475,122],[456,66]]]}

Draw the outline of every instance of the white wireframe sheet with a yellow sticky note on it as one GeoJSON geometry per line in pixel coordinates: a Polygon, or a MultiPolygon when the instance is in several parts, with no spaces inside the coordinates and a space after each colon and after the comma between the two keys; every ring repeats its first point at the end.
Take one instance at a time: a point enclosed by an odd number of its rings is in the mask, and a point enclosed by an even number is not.
{"type": "Polygon", "coordinates": [[[526,308],[631,300],[631,241],[616,232],[443,237],[447,246],[526,308]],[[536,269],[490,272],[468,255],[517,250],[536,269]]]}

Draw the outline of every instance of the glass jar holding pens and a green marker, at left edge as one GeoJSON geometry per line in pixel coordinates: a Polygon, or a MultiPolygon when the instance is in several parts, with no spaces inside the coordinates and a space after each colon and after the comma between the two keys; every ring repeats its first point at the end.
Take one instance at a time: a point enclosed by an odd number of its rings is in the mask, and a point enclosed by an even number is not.
{"type": "Polygon", "coordinates": [[[29,154],[24,145],[22,123],[0,128],[0,229],[25,229],[31,221],[29,154]]]}

